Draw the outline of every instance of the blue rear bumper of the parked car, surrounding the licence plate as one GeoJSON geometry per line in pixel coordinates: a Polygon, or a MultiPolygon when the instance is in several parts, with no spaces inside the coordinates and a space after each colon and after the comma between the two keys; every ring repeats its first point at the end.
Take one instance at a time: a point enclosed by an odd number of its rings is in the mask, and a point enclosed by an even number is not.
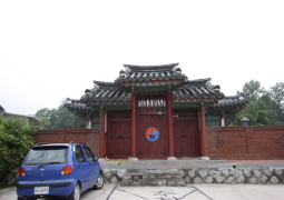
{"type": "Polygon", "coordinates": [[[53,180],[53,181],[18,181],[18,197],[68,197],[71,194],[76,180],[53,180]],[[49,192],[35,194],[35,187],[49,187],[49,192]]]}

